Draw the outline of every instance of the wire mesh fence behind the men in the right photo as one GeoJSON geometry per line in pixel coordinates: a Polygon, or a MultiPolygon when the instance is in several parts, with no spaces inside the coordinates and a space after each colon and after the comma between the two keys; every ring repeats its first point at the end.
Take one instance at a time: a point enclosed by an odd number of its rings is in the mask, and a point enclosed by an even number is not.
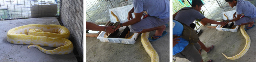
{"type": "MultiPolygon", "coordinates": [[[[192,0],[173,0],[173,14],[178,12],[183,7],[191,7],[189,2],[192,0]]],[[[256,0],[246,0],[256,6],[256,0]]],[[[223,19],[223,12],[235,10],[236,7],[231,8],[225,0],[202,0],[202,10],[204,16],[215,21],[223,19]]],[[[197,26],[198,27],[198,26],[197,26]]]]}

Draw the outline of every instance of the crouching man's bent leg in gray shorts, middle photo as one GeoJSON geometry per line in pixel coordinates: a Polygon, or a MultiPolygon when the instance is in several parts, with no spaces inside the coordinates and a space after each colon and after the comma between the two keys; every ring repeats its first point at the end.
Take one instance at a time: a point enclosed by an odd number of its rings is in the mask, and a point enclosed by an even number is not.
{"type": "MultiPolygon", "coordinates": [[[[135,33],[145,33],[149,31],[156,30],[155,36],[161,36],[163,31],[165,30],[165,24],[170,21],[169,18],[160,19],[155,16],[148,16],[144,19],[141,19],[141,21],[132,24],[130,28],[130,32],[135,33]]],[[[153,37],[154,39],[157,39],[159,37],[153,37]]]]}

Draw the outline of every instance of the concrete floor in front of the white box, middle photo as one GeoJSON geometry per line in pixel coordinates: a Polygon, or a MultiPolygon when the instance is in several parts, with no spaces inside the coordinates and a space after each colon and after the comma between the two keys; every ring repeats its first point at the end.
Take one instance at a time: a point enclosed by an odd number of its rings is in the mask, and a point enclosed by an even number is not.
{"type": "MultiPolygon", "coordinates": [[[[170,25],[170,23],[168,23],[170,25]]],[[[170,27],[166,27],[167,35],[151,42],[159,55],[160,62],[170,61],[170,27]]],[[[151,37],[155,31],[150,32],[151,37]]],[[[100,42],[94,37],[86,37],[86,62],[150,62],[139,35],[134,45],[100,42]]]]}

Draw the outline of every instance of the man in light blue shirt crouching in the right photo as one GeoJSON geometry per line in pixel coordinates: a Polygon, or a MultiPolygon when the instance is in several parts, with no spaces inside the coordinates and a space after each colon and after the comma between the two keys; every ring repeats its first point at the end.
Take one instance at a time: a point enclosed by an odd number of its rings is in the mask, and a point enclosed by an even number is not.
{"type": "Polygon", "coordinates": [[[234,25],[248,25],[248,27],[244,28],[244,30],[249,30],[254,27],[254,20],[256,19],[256,7],[251,4],[249,1],[244,0],[225,0],[230,7],[236,6],[236,12],[233,14],[232,20],[229,22],[234,21],[234,25]],[[241,15],[244,14],[242,18],[241,15]],[[236,16],[237,17],[236,17],[236,16]]]}

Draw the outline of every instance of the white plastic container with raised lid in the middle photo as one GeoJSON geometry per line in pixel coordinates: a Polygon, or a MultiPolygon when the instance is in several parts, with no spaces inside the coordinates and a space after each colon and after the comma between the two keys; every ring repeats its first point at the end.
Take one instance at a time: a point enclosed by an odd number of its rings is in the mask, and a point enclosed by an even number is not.
{"type": "MultiPolygon", "coordinates": [[[[110,16],[111,22],[117,22],[116,18],[111,15],[111,11],[119,18],[121,23],[128,21],[127,14],[132,9],[132,7],[133,7],[133,5],[127,5],[127,6],[123,6],[123,7],[109,9],[109,16],[110,16]]],[[[135,17],[134,14],[132,14],[132,15],[133,15],[133,17],[135,17]]],[[[123,32],[123,30],[125,29],[125,27],[126,26],[119,28],[118,34],[121,34],[123,32]]],[[[129,26],[129,28],[130,28],[130,26],[129,26]]],[[[104,38],[105,33],[106,32],[101,31],[101,33],[99,34],[97,39],[99,39],[101,42],[120,43],[120,44],[134,44],[136,42],[138,36],[140,35],[139,33],[134,33],[134,35],[132,36],[131,39],[104,38]]]]}

